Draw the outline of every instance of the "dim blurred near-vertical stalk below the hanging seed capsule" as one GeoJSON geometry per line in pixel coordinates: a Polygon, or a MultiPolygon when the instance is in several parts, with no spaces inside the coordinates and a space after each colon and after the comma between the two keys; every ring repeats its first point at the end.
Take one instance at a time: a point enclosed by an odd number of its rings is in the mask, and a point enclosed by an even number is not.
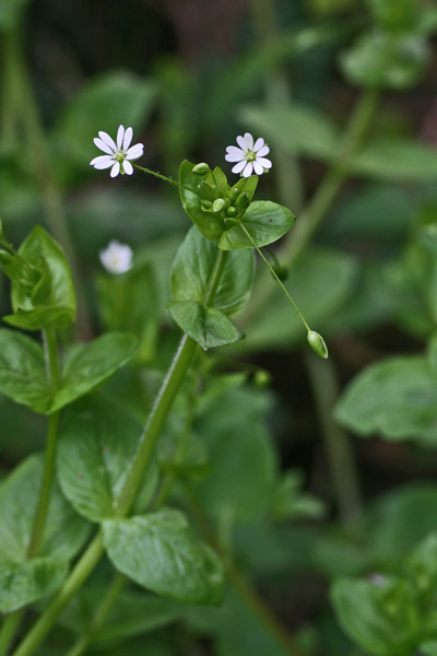
{"type": "Polygon", "coordinates": [[[355,456],[347,435],[332,418],[339,395],[335,371],[332,362],[322,362],[312,353],[306,355],[306,364],[318,409],[340,520],[344,526],[358,526],[363,522],[363,507],[355,456]]]}

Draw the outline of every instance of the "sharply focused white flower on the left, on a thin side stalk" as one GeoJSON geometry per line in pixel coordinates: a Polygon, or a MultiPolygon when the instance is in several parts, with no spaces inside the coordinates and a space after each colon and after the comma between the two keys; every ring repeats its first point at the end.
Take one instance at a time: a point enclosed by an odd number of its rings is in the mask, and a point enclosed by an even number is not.
{"type": "Polygon", "coordinates": [[[142,143],[130,145],[132,134],[132,128],[127,128],[125,130],[123,126],[120,126],[117,131],[116,143],[107,132],[98,132],[98,137],[94,139],[94,143],[106,154],[94,157],[90,164],[94,166],[94,168],[109,168],[109,166],[111,166],[110,177],[116,177],[119,173],[132,175],[133,166],[129,160],[138,160],[141,157],[144,150],[142,143]]]}

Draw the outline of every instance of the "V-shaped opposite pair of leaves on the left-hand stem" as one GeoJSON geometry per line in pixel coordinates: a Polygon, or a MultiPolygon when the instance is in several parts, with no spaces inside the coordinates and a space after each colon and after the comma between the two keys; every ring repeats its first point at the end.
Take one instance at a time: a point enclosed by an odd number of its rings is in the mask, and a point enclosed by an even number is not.
{"type": "Polygon", "coordinates": [[[108,332],[76,349],[66,362],[59,389],[47,382],[43,348],[26,335],[0,330],[0,391],[40,414],[51,414],[104,383],[134,354],[132,335],[108,332]]]}

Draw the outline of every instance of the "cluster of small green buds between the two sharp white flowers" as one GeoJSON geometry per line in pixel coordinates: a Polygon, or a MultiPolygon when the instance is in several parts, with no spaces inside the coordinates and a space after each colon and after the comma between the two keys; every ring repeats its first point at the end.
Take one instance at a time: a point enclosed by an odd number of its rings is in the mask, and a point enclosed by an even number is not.
{"type": "MultiPolygon", "coordinates": [[[[197,164],[192,172],[197,175],[205,175],[210,173],[210,167],[205,162],[197,164]]],[[[198,185],[200,204],[204,212],[213,212],[220,214],[225,221],[226,219],[238,220],[250,204],[250,198],[245,191],[239,191],[236,187],[228,188],[228,194],[224,195],[214,184],[209,185],[202,180],[198,185]]]]}

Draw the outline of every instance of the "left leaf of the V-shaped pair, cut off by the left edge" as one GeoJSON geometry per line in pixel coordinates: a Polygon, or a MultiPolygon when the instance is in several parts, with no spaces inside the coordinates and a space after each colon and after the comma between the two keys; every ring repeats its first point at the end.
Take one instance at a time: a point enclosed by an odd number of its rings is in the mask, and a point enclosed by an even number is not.
{"type": "Polygon", "coordinates": [[[0,329],[0,391],[35,412],[46,412],[51,402],[42,347],[14,330],[0,329]]]}

